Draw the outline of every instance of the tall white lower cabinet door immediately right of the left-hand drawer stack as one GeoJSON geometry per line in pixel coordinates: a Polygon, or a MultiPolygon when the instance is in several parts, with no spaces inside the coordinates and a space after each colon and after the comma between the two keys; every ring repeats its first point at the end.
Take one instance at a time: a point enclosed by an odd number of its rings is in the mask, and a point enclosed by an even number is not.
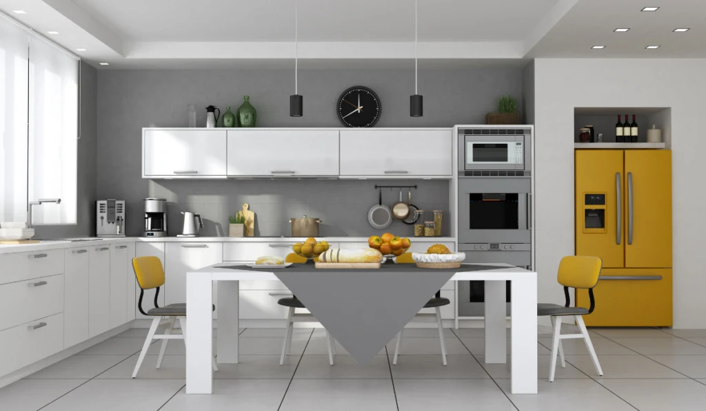
{"type": "Polygon", "coordinates": [[[64,348],[88,340],[88,247],[64,250],[64,348]]]}

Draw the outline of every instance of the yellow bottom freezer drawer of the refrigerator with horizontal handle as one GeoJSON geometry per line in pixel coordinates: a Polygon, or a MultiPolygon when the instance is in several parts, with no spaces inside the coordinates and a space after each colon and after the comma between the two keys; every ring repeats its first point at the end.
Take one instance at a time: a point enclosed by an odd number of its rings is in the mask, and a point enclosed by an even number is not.
{"type": "MultiPolygon", "coordinates": [[[[671,326],[671,275],[671,269],[603,269],[593,289],[594,312],[584,316],[586,325],[671,326]]],[[[587,290],[576,290],[576,306],[590,307],[587,290]]]]}

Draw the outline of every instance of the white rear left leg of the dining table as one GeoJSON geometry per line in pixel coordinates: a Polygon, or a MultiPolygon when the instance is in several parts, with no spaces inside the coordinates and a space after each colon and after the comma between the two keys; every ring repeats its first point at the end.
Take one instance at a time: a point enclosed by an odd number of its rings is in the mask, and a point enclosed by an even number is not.
{"type": "Polygon", "coordinates": [[[216,329],[216,362],[238,363],[240,281],[218,281],[218,327],[216,329]]]}

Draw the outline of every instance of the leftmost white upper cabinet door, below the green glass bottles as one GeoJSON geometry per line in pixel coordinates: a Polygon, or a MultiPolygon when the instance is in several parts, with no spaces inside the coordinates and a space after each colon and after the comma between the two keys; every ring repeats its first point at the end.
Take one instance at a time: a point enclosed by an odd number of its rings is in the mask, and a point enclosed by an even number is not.
{"type": "Polygon", "coordinates": [[[225,178],[226,130],[143,130],[143,177],[225,178]]]}

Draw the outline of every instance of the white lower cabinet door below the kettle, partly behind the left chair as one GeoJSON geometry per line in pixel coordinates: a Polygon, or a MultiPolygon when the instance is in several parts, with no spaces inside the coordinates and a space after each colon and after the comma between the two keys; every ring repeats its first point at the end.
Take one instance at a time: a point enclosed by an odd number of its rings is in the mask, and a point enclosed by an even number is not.
{"type": "MultiPolygon", "coordinates": [[[[169,290],[164,294],[164,304],[186,302],[186,272],[223,262],[223,243],[167,243],[164,250],[165,281],[169,290]]],[[[213,298],[216,303],[216,281],[213,281],[213,298]]],[[[214,318],[216,312],[213,313],[214,318]]]]}

